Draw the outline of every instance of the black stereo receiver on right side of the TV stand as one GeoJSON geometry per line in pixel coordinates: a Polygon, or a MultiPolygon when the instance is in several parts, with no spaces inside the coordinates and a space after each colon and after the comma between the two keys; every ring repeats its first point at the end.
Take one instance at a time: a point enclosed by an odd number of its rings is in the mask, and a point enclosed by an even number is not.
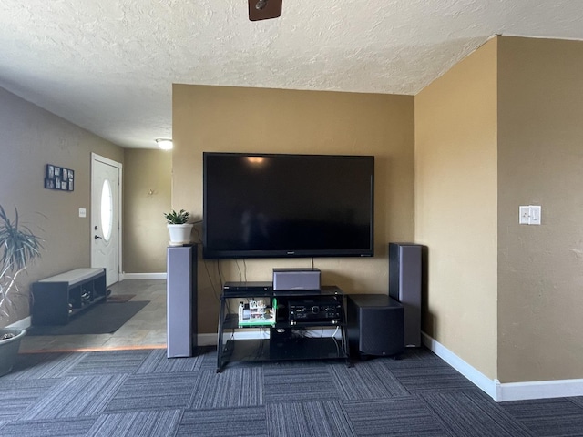
{"type": "Polygon", "coordinates": [[[332,325],[343,320],[343,305],[336,297],[326,297],[325,299],[304,298],[301,300],[290,300],[288,308],[290,310],[290,324],[298,325],[302,323],[330,323],[332,325]]]}

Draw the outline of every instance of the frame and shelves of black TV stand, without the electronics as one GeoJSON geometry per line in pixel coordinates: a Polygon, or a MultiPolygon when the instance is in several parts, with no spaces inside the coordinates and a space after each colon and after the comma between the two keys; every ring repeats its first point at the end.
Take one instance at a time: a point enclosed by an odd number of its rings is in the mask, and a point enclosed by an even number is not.
{"type": "MultiPolygon", "coordinates": [[[[350,365],[348,350],[348,335],[345,314],[345,299],[342,290],[337,287],[322,287],[322,290],[309,291],[286,291],[286,292],[264,292],[261,297],[278,300],[278,304],[283,303],[285,310],[281,310],[278,305],[276,322],[274,326],[240,326],[239,315],[226,313],[227,300],[254,299],[260,297],[253,292],[223,293],[220,297],[220,315],[218,327],[218,348],[217,348],[217,371],[223,370],[224,366],[231,361],[283,361],[283,360],[345,360],[350,365]],[[290,323],[289,300],[298,299],[326,299],[335,296],[341,303],[341,318],[338,322],[332,323],[328,320],[301,321],[290,323]],[[337,329],[340,338],[331,337],[308,337],[298,334],[302,330],[314,329],[337,329]],[[235,332],[245,332],[245,330],[269,330],[269,339],[232,339],[226,342],[223,340],[226,331],[232,336],[235,332]]],[[[336,331],[334,331],[336,333],[336,331]]]]}

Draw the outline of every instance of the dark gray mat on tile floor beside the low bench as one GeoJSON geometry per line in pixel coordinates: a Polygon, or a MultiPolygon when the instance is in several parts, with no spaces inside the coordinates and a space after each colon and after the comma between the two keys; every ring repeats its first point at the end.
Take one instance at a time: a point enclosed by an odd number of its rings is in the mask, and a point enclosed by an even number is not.
{"type": "Polygon", "coordinates": [[[149,300],[97,303],[72,317],[66,325],[35,325],[27,330],[26,335],[111,334],[138,314],[138,311],[148,303],[149,300]]]}

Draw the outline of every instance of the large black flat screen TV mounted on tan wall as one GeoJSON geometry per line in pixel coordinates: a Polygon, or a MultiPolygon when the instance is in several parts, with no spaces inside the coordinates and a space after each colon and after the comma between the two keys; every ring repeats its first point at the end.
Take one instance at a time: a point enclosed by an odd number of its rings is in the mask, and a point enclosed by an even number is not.
{"type": "Polygon", "coordinates": [[[374,157],[203,153],[203,256],[373,256],[374,157]]]}

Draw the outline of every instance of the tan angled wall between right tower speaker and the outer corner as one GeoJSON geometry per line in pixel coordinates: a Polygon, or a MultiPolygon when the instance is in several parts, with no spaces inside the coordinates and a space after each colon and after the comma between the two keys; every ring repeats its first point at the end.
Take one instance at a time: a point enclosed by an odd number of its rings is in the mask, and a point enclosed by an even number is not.
{"type": "Polygon", "coordinates": [[[496,40],[415,96],[423,330],[496,378],[496,40]]]}

